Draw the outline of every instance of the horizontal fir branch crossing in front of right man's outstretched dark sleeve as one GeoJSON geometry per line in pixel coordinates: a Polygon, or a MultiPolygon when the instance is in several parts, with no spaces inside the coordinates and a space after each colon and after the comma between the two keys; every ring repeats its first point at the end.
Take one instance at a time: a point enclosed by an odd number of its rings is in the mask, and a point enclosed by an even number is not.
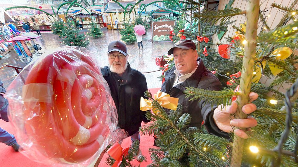
{"type": "Polygon", "coordinates": [[[216,104],[220,105],[223,104],[224,106],[226,104],[230,104],[230,99],[233,96],[239,95],[239,92],[234,92],[232,89],[225,89],[221,91],[209,91],[199,88],[186,88],[184,91],[184,94],[186,95],[186,98],[193,96],[189,99],[189,101],[198,100],[205,101],[206,103],[210,103],[211,105],[216,104]]]}

